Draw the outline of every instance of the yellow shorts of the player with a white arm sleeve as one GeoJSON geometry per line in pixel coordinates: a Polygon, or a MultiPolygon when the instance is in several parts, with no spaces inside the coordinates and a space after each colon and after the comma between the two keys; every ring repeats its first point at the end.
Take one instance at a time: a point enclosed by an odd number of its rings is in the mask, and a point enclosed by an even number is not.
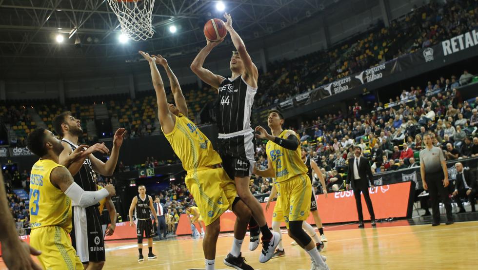
{"type": "Polygon", "coordinates": [[[30,245],[41,251],[38,259],[45,270],[82,270],[80,257],[71,245],[65,229],[59,226],[40,227],[30,233],[30,245]]]}

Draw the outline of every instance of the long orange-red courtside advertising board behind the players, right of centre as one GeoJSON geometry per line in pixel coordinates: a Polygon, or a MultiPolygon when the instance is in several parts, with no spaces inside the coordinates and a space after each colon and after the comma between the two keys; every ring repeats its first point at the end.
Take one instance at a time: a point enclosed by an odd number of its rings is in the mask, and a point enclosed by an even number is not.
{"type": "MultiPolygon", "coordinates": [[[[377,219],[389,217],[407,217],[411,214],[412,200],[410,193],[412,182],[401,182],[390,185],[378,186],[374,192],[370,192],[370,198],[374,206],[375,216],[377,219]]],[[[357,207],[353,191],[343,191],[329,193],[327,198],[323,194],[316,195],[318,211],[323,223],[339,223],[353,222],[359,218],[357,216],[357,207]]],[[[363,196],[362,205],[365,205],[363,196]]],[[[261,203],[268,224],[272,224],[272,212],[274,211],[275,201],[271,202],[269,211],[265,211],[266,203],[261,203]]],[[[365,219],[370,219],[370,215],[366,207],[362,208],[365,219]]],[[[234,223],[236,216],[232,211],[223,213],[220,217],[220,231],[234,231],[234,223]]],[[[309,216],[307,219],[309,224],[315,224],[314,218],[309,216]]],[[[191,234],[189,220],[186,214],[181,214],[179,218],[178,229],[176,234],[191,234]]],[[[281,226],[285,226],[283,223],[281,226]]]]}

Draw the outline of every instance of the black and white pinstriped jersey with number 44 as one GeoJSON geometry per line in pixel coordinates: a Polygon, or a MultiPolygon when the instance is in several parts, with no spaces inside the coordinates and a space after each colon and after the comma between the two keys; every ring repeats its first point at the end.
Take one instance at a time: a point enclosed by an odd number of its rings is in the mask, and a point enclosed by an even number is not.
{"type": "Polygon", "coordinates": [[[216,117],[219,138],[251,133],[251,110],[257,88],[251,87],[239,76],[223,80],[218,92],[216,117]]]}

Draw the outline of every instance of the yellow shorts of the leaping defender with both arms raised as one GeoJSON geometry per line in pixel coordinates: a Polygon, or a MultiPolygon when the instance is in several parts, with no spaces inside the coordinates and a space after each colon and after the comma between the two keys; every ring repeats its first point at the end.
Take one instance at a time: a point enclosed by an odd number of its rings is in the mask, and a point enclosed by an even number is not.
{"type": "Polygon", "coordinates": [[[231,209],[237,196],[234,180],[231,180],[222,168],[190,170],[185,182],[206,226],[231,209]]]}

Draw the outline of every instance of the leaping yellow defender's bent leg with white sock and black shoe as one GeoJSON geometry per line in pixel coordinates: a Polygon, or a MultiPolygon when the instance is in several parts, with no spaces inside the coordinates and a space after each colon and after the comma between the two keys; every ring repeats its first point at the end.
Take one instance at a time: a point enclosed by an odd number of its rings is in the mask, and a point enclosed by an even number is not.
{"type": "Polygon", "coordinates": [[[236,197],[233,202],[232,211],[237,216],[236,223],[234,224],[234,242],[231,252],[224,258],[223,263],[238,270],[253,270],[251,266],[245,263],[244,258],[241,256],[242,253],[240,252],[244,236],[246,235],[247,225],[251,218],[251,210],[239,197],[236,197]]]}

